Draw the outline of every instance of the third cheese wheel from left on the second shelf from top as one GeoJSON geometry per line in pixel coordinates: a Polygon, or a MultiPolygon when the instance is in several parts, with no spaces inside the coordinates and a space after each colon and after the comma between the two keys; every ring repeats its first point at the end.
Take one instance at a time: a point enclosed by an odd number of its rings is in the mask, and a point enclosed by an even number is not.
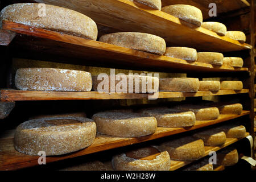
{"type": "Polygon", "coordinates": [[[196,49],[188,48],[188,47],[167,47],[166,53],[164,53],[164,56],[183,59],[186,61],[197,60],[196,49]]]}

